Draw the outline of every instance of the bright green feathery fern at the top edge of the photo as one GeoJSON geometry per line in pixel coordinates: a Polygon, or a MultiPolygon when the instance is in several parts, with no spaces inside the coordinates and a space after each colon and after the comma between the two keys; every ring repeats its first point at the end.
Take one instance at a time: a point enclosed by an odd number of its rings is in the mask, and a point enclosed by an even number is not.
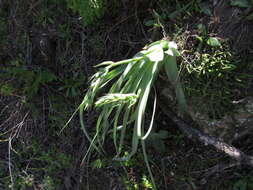
{"type": "Polygon", "coordinates": [[[104,15],[106,0],[67,0],[70,9],[80,14],[86,25],[104,15]]]}

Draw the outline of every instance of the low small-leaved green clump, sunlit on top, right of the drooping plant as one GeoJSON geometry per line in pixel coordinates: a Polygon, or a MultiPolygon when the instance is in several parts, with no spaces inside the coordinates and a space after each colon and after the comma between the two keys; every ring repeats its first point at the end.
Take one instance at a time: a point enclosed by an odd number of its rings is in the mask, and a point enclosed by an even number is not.
{"type": "MultiPolygon", "coordinates": [[[[204,49],[206,50],[206,49],[204,49]]],[[[194,61],[186,65],[185,88],[194,109],[221,118],[234,108],[243,81],[247,80],[240,58],[226,47],[208,53],[195,54],[194,61]]]]}

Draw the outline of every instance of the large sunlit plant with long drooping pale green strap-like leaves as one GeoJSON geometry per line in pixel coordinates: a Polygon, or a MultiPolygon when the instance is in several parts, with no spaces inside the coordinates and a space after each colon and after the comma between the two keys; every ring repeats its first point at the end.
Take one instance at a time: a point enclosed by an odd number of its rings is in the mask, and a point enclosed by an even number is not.
{"type": "Polygon", "coordinates": [[[129,159],[141,144],[144,160],[154,182],[147,160],[145,139],[153,126],[156,93],[154,93],[153,114],[148,127],[144,126],[145,110],[154,81],[162,68],[175,87],[179,111],[186,110],[184,92],[178,80],[176,56],[179,56],[176,43],[160,40],[148,45],[131,59],[118,62],[106,61],[96,66],[99,71],[92,76],[89,89],[79,106],[81,128],[91,143],[88,153],[92,150],[103,153],[103,143],[109,133],[113,134],[115,160],[129,159]],[[97,97],[103,88],[109,89],[108,92],[97,97]],[[91,138],[85,128],[84,111],[93,107],[100,111],[100,115],[97,119],[95,135],[91,138]],[[131,152],[122,157],[126,129],[130,126],[131,152]]]}

